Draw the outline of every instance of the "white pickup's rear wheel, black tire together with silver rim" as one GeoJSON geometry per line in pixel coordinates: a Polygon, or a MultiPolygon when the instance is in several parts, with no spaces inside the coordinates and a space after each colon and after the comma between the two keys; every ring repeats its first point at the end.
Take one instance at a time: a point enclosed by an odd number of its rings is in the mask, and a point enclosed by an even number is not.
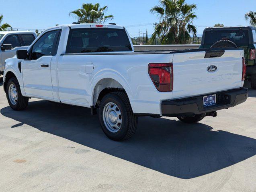
{"type": "Polygon", "coordinates": [[[103,132],[112,140],[126,140],[136,131],[137,116],[123,92],[106,94],[100,102],[98,116],[103,132]]]}

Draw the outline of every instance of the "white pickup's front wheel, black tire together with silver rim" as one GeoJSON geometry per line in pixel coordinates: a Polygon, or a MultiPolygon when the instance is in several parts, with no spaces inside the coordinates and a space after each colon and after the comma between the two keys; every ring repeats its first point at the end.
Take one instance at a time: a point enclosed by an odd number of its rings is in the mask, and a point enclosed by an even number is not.
{"type": "Polygon", "coordinates": [[[29,98],[24,97],[20,91],[20,85],[16,78],[10,78],[7,83],[6,97],[13,110],[24,110],[28,106],[29,98]]]}

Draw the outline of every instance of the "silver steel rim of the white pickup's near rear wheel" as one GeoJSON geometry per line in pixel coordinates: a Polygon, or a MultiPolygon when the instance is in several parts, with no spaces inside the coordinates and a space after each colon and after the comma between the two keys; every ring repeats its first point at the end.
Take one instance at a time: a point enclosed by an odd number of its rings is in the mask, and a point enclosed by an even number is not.
{"type": "Polygon", "coordinates": [[[113,102],[107,103],[102,112],[102,117],[106,128],[110,132],[118,132],[122,125],[122,114],[119,107],[113,102]]]}

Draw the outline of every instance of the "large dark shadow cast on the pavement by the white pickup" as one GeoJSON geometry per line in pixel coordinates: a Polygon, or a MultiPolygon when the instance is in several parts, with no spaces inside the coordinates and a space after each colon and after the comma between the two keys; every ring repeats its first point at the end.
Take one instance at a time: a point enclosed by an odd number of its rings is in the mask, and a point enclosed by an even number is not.
{"type": "Polygon", "coordinates": [[[190,179],[231,166],[256,154],[256,140],[197,123],[139,118],[136,134],[124,142],[109,140],[90,109],[47,101],[29,102],[27,110],[10,107],[1,114],[41,131],[177,178],[190,179]]]}

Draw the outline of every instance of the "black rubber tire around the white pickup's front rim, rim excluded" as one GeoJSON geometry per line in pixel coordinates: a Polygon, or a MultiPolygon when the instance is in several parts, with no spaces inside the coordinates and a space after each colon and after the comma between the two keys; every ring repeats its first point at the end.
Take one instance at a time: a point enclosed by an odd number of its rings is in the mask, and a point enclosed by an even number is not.
{"type": "Polygon", "coordinates": [[[24,110],[28,106],[29,98],[28,97],[24,97],[21,94],[20,85],[18,83],[18,80],[16,78],[14,78],[14,77],[10,78],[10,80],[7,83],[7,86],[6,86],[6,97],[7,97],[7,100],[8,100],[8,103],[9,103],[10,107],[13,110],[15,110],[15,111],[24,110]],[[12,104],[12,102],[11,102],[11,100],[9,98],[9,88],[10,88],[11,85],[14,85],[15,88],[16,88],[16,91],[17,91],[17,101],[16,101],[16,104],[12,104]]]}

